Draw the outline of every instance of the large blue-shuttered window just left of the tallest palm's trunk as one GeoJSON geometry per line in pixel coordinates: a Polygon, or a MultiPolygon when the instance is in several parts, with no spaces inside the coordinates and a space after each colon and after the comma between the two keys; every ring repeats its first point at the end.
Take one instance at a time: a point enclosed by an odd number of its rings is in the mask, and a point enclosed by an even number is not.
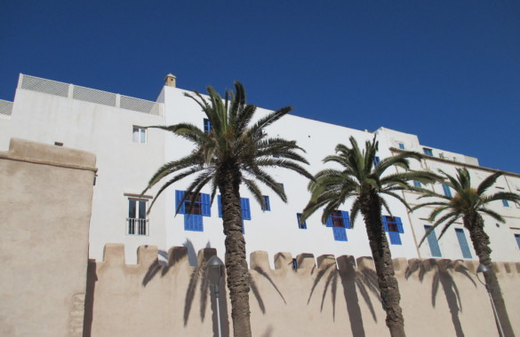
{"type": "Polygon", "coordinates": [[[212,216],[210,195],[190,193],[184,202],[184,191],[175,191],[175,211],[184,215],[184,231],[204,231],[203,216],[212,216]],[[193,206],[192,206],[193,205],[193,206]]]}

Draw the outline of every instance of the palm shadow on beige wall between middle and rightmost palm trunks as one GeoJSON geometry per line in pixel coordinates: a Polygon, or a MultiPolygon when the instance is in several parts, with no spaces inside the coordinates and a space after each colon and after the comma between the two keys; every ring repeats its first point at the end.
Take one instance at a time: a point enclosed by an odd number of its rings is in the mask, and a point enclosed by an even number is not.
{"type": "Polygon", "coordinates": [[[432,306],[434,308],[436,306],[436,295],[440,285],[443,288],[444,296],[446,298],[446,302],[448,303],[450,314],[452,315],[452,323],[453,327],[455,328],[455,333],[457,337],[464,337],[464,332],[462,331],[462,325],[460,324],[459,318],[459,311],[462,312],[462,302],[460,301],[459,288],[453,279],[452,272],[459,272],[460,274],[464,275],[471,281],[471,283],[473,283],[473,286],[476,286],[475,281],[473,278],[471,278],[469,270],[466,268],[466,266],[457,262],[453,262],[452,260],[436,259],[429,259],[425,262],[414,260],[412,263],[410,263],[408,268],[406,268],[404,277],[408,279],[414,272],[418,272],[420,282],[422,282],[425,275],[430,270],[434,270],[431,289],[432,306]]]}

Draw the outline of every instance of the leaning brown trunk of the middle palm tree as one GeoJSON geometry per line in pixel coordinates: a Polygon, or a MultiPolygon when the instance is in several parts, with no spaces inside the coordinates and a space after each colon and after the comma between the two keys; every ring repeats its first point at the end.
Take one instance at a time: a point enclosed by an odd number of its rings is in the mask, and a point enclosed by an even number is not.
{"type": "Polygon", "coordinates": [[[394,273],[392,255],[381,223],[381,205],[375,192],[360,197],[361,213],[372,250],[373,262],[378,275],[383,309],[387,312],[387,326],[392,337],[404,337],[403,311],[399,305],[401,294],[394,273]]]}

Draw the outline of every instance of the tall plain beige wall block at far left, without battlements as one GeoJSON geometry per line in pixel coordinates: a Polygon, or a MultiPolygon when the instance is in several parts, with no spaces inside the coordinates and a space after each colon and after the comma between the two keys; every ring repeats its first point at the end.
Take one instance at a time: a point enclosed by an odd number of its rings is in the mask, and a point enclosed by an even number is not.
{"type": "Polygon", "coordinates": [[[12,139],[0,153],[0,335],[81,336],[95,156],[12,139]]]}

